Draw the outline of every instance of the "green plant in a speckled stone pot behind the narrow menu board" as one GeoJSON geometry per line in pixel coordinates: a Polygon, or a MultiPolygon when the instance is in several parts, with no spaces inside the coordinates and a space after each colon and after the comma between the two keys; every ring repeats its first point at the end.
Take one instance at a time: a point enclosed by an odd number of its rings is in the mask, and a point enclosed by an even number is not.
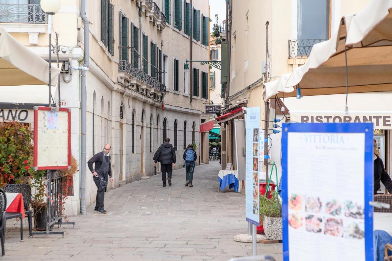
{"type": "Polygon", "coordinates": [[[260,219],[267,239],[282,240],[282,205],[277,191],[271,199],[260,196],[260,219]]]}

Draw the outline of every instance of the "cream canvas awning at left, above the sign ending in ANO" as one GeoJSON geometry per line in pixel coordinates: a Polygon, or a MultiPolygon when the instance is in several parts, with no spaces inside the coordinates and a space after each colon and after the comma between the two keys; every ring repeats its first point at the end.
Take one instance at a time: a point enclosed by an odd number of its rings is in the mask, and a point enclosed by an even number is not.
{"type": "MultiPolygon", "coordinates": [[[[49,49],[48,49],[49,51],[49,49]]],[[[52,66],[51,85],[60,69],[52,66]]],[[[0,85],[48,85],[49,63],[0,27],[0,85]]]]}

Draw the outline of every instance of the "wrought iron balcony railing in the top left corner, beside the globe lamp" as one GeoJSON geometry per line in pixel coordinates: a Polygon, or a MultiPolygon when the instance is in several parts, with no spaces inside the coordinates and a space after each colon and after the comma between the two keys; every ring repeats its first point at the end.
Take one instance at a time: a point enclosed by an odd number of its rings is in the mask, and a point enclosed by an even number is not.
{"type": "Polygon", "coordinates": [[[0,4],[0,23],[45,24],[46,15],[41,5],[0,4]]]}

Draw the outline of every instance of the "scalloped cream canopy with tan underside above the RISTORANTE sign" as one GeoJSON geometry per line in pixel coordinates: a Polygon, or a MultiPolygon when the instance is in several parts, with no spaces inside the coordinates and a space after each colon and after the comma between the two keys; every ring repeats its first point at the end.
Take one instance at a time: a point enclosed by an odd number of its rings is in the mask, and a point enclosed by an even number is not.
{"type": "Polygon", "coordinates": [[[345,93],[345,45],[348,92],[392,91],[391,11],[392,0],[372,0],[343,16],[338,32],[315,44],[304,65],[265,83],[265,98],[296,96],[298,87],[303,96],[345,93]]]}

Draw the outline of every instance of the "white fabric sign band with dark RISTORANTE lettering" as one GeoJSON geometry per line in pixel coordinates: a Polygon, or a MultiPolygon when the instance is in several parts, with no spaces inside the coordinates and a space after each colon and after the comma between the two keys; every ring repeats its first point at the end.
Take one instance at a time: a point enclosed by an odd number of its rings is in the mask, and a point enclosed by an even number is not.
{"type": "Polygon", "coordinates": [[[374,129],[392,129],[392,112],[350,112],[348,115],[333,112],[290,112],[292,122],[313,123],[342,123],[342,122],[373,122],[374,129]]]}

